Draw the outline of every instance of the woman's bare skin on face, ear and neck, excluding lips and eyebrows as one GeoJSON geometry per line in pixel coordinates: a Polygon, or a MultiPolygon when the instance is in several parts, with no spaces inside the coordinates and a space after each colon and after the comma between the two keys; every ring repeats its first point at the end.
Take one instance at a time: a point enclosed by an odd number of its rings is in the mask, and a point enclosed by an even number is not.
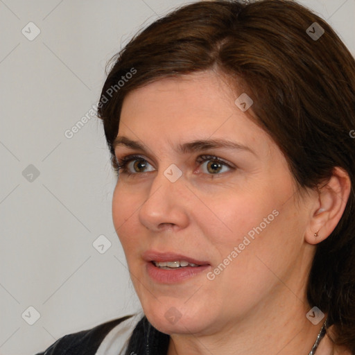
{"type": "MultiPolygon", "coordinates": [[[[144,313],[171,335],[169,355],[308,355],[325,320],[313,325],[306,318],[306,278],[315,245],[343,214],[349,177],[336,168],[320,193],[298,196],[281,150],[235,105],[240,94],[207,71],[157,80],[123,102],[118,136],[139,141],[146,151],[117,146],[116,157],[139,155],[146,165],[135,160],[128,164],[132,175],[120,171],[112,216],[144,313]],[[216,138],[254,153],[174,149],[216,138]],[[221,165],[214,173],[214,160],[196,162],[200,155],[224,159],[230,168],[221,165]],[[171,164],[182,171],[176,182],[164,175],[171,164]],[[207,260],[207,271],[214,270],[275,210],[279,214],[215,279],[202,272],[158,284],[148,276],[142,254],[152,249],[207,260]],[[172,306],[181,315],[174,324],[165,317],[172,306]]],[[[317,355],[337,354],[331,343],[322,347],[317,355]]]]}

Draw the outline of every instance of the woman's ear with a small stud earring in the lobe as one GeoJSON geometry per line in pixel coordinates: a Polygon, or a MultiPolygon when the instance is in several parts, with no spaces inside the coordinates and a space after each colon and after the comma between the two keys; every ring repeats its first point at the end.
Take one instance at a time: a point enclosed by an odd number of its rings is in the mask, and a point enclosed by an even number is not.
{"type": "Polygon", "coordinates": [[[329,181],[318,189],[318,199],[310,211],[311,219],[306,229],[307,243],[318,244],[334,231],[343,216],[351,187],[348,173],[336,166],[329,181]]]}

